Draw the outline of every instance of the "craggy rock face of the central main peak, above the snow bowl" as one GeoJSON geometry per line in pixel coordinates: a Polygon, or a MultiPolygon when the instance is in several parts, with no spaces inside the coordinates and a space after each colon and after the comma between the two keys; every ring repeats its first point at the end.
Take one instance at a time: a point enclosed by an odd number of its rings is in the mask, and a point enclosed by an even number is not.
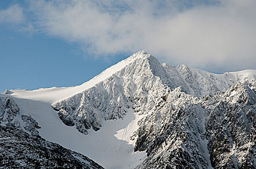
{"type": "Polygon", "coordinates": [[[131,57],[130,64],[106,80],[53,104],[64,124],[76,125],[81,133],[87,134],[91,127],[95,131],[100,129],[102,118],[124,118],[130,107],[135,112],[150,111],[168,93],[169,75],[155,57],[144,52],[131,57]]]}

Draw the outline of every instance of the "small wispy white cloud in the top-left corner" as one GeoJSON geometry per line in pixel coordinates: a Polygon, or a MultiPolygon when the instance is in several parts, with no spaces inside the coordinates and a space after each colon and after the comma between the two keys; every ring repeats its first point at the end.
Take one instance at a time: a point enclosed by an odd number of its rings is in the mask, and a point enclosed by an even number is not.
{"type": "Polygon", "coordinates": [[[0,10],[0,24],[1,23],[11,23],[20,24],[24,22],[25,17],[23,14],[23,9],[17,4],[10,6],[7,9],[0,10]]]}

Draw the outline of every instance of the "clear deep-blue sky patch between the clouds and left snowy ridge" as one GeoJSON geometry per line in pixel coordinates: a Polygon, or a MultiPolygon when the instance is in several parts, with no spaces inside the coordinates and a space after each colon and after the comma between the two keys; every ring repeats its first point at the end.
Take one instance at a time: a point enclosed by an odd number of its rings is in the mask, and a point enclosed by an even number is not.
{"type": "Polygon", "coordinates": [[[95,59],[75,44],[42,34],[0,32],[0,92],[82,84],[127,55],[95,59]]]}

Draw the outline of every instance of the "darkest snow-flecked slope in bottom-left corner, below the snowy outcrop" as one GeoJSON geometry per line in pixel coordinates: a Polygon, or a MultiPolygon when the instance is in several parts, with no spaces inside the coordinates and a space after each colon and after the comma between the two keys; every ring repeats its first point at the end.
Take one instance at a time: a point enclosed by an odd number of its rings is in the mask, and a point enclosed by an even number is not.
{"type": "Polygon", "coordinates": [[[0,161],[0,169],[103,169],[59,144],[4,126],[0,126],[0,161]]]}

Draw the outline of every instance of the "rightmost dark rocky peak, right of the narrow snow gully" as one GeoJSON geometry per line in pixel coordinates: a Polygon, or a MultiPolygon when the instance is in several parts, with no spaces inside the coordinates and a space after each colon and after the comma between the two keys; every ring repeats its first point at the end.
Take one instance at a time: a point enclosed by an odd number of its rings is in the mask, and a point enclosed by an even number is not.
{"type": "Polygon", "coordinates": [[[215,169],[256,168],[256,91],[236,83],[206,120],[208,148],[215,169]]]}

